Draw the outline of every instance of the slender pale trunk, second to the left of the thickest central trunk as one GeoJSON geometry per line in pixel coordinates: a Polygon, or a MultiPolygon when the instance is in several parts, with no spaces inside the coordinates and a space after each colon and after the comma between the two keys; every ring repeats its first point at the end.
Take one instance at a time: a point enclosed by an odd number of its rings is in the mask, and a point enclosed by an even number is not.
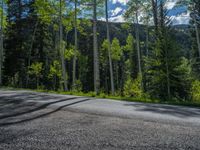
{"type": "Polygon", "coordinates": [[[59,49],[62,64],[62,76],[64,81],[64,91],[68,91],[67,79],[66,79],[66,68],[64,58],[64,45],[63,45],[63,27],[62,27],[62,0],[60,0],[60,12],[59,12],[59,49]]]}

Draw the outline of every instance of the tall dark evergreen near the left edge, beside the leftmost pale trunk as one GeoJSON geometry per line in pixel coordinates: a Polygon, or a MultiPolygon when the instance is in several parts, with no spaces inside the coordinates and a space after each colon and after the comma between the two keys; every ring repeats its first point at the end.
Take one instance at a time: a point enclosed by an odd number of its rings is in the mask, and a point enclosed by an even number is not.
{"type": "Polygon", "coordinates": [[[7,30],[5,39],[5,81],[14,79],[14,76],[19,75],[16,82],[22,87],[25,85],[26,79],[26,56],[28,55],[28,46],[30,39],[30,28],[35,20],[32,18],[33,1],[22,2],[8,1],[7,12],[7,30]],[[27,11],[28,10],[28,11],[27,11]],[[12,44],[10,44],[12,43],[12,44]],[[17,56],[17,57],[15,57],[17,56]],[[15,67],[13,67],[15,66],[15,67]]]}

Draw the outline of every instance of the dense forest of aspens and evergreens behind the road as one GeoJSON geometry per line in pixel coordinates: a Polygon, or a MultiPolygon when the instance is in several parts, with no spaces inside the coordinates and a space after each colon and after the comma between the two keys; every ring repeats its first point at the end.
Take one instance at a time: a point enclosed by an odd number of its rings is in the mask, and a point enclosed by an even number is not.
{"type": "Polygon", "coordinates": [[[113,23],[107,0],[1,0],[0,85],[200,101],[200,1],[177,3],[178,26],[165,2],[130,0],[113,23]]]}

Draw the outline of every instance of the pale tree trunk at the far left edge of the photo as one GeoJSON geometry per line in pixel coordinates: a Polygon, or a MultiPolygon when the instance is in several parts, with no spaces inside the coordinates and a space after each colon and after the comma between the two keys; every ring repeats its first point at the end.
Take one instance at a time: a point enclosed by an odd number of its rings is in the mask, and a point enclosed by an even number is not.
{"type": "Polygon", "coordinates": [[[2,85],[2,68],[3,68],[3,15],[4,15],[4,11],[3,11],[3,0],[1,2],[1,9],[2,9],[2,13],[1,13],[1,33],[0,33],[0,86],[2,85]]]}

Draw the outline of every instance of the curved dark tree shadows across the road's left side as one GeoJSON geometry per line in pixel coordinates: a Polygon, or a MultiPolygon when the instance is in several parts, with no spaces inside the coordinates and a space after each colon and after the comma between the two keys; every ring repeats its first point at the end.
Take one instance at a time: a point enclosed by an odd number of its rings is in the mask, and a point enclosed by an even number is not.
{"type": "Polygon", "coordinates": [[[31,120],[35,120],[41,117],[48,116],[52,113],[55,113],[64,107],[75,105],[78,103],[82,103],[88,101],[90,99],[82,99],[78,100],[78,98],[82,97],[71,97],[71,98],[63,98],[58,99],[58,97],[49,96],[49,95],[37,95],[37,94],[30,94],[30,93],[20,93],[14,94],[10,96],[0,96],[0,126],[8,126],[23,122],[28,122],[31,120]],[[56,99],[55,101],[48,102],[49,99],[56,99]],[[57,100],[58,99],[58,100],[57,100]],[[27,100],[32,100],[27,101],[27,100]],[[37,101],[47,101],[45,103],[38,103],[37,101]],[[69,100],[76,100],[72,101],[66,105],[62,105],[60,107],[56,107],[55,109],[51,109],[52,111],[48,111],[45,113],[40,113],[40,111],[45,110],[45,108],[60,102],[65,102],[69,100]],[[38,113],[39,112],[39,113],[38,113]],[[36,113],[37,115],[33,115],[36,113]],[[23,117],[23,115],[27,117],[23,117]],[[13,121],[14,120],[14,121],[13,121]],[[17,120],[17,121],[15,121],[17,120]]]}

